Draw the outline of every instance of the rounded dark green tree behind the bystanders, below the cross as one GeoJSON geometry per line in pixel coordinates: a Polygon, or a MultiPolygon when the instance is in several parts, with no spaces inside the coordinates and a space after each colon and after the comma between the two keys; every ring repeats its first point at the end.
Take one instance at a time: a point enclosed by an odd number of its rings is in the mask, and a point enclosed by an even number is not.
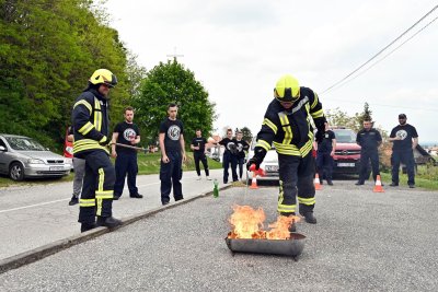
{"type": "Polygon", "coordinates": [[[136,120],[141,137],[147,143],[154,143],[161,121],[166,117],[168,105],[178,105],[178,116],[184,124],[185,140],[188,144],[195,130],[211,133],[216,120],[215,103],[195,74],[178,63],[176,58],[160,62],[150,70],[140,87],[140,94],[132,100],[136,120]]]}

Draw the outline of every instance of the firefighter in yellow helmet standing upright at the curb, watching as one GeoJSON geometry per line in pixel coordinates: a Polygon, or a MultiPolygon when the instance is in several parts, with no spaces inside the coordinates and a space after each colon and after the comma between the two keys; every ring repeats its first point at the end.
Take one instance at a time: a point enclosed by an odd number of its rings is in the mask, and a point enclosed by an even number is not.
{"type": "Polygon", "coordinates": [[[112,214],[115,171],[107,148],[111,142],[107,96],[110,89],[116,84],[117,79],[110,70],[99,69],[73,105],[73,155],[85,160],[85,176],[79,200],[81,232],[122,224],[112,214]]]}

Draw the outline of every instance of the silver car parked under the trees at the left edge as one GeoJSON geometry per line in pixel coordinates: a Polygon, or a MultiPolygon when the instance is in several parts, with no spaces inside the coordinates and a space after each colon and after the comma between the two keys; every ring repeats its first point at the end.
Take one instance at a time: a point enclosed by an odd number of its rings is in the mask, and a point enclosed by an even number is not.
{"type": "Polygon", "coordinates": [[[13,180],[68,175],[72,167],[69,161],[71,159],[49,151],[32,138],[0,135],[0,173],[13,180]]]}

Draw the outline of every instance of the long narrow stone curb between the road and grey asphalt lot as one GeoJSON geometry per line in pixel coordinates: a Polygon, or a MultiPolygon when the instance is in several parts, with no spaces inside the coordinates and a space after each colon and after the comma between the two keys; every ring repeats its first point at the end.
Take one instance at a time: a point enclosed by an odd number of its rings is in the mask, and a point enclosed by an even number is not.
{"type": "MultiPolygon", "coordinates": [[[[233,187],[233,186],[232,185],[228,185],[228,186],[220,187],[219,189],[220,190],[226,190],[226,189],[231,188],[231,187],[233,187]]],[[[164,211],[164,210],[168,210],[168,209],[173,209],[173,208],[176,208],[176,207],[178,207],[181,205],[185,205],[185,203],[188,203],[191,201],[194,201],[194,200],[207,197],[207,196],[211,196],[211,195],[212,195],[212,191],[207,191],[207,192],[200,194],[200,195],[192,197],[192,198],[187,198],[187,199],[184,199],[184,200],[171,203],[171,205],[166,205],[166,206],[163,206],[163,207],[151,209],[151,210],[148,210],[146,212],[142,212],[142,213],[139,213],[139,214],[136,214],[136,215],[130,215],[130,217],[124,218],[124,219],[122,219],[122,222],[123,222],[122,226],[119,226],[117,229],[127,226],[127,225],[129,225],[129,224],[131,224],[134,222],[142,220],[145,218],[148,218],[148,217],[153,215],[155,213],[159,213],[161,211],[164,211]]],[[[101,236],[103,234],[106,234],[108,232],[115,231],[117,229],[108,230],[106,227],[96,227],[96,229],[90,230],[88,232],[76,234],[76,235],[69,236],[67,238],[59,240],[59,241],[56,241],[54,243],[46,244],[46,245],[43,245],[41,247],[31,249],[28,252],[24,252],[24,253],[15,255],[15,256],[1,259],[0,260],[0,273],[7,272],[7,271],[12,270],[12,269],[20,268],[20,267],[25,266],[27,264],[35,262],[35,261],[37,261],[39,259],[43,259],[43,258],[48,257],[48,256],[51,256],[51,255],[54,255],[56,253],[59,253],[59,252],[61,252],[64,249],[70,248],[71,246],[74,246],[74,245],[84,243],[87,241],[93,240],[95,237],[99,237],[99,236],[101,236]]]]}

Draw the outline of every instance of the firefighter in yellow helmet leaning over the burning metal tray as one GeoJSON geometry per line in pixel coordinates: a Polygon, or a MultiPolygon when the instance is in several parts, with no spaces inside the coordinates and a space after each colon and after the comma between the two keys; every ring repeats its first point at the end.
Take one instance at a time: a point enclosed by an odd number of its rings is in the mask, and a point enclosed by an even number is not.
{"type": "Polygon", "coordinates": [[[313,215],[315,170],[311,119],[320,131],[324,131],[326,120],[322,105],[311,89],[300,86],[289,74],[278,80],[274,97],[257,133],[254,156],[246,167],[255,164],[257,170],[274,143],[279,164],[278,212],[281,215],[295,214],[298,195],[300,214],[306,222],[316,223],[313,215]]]}

